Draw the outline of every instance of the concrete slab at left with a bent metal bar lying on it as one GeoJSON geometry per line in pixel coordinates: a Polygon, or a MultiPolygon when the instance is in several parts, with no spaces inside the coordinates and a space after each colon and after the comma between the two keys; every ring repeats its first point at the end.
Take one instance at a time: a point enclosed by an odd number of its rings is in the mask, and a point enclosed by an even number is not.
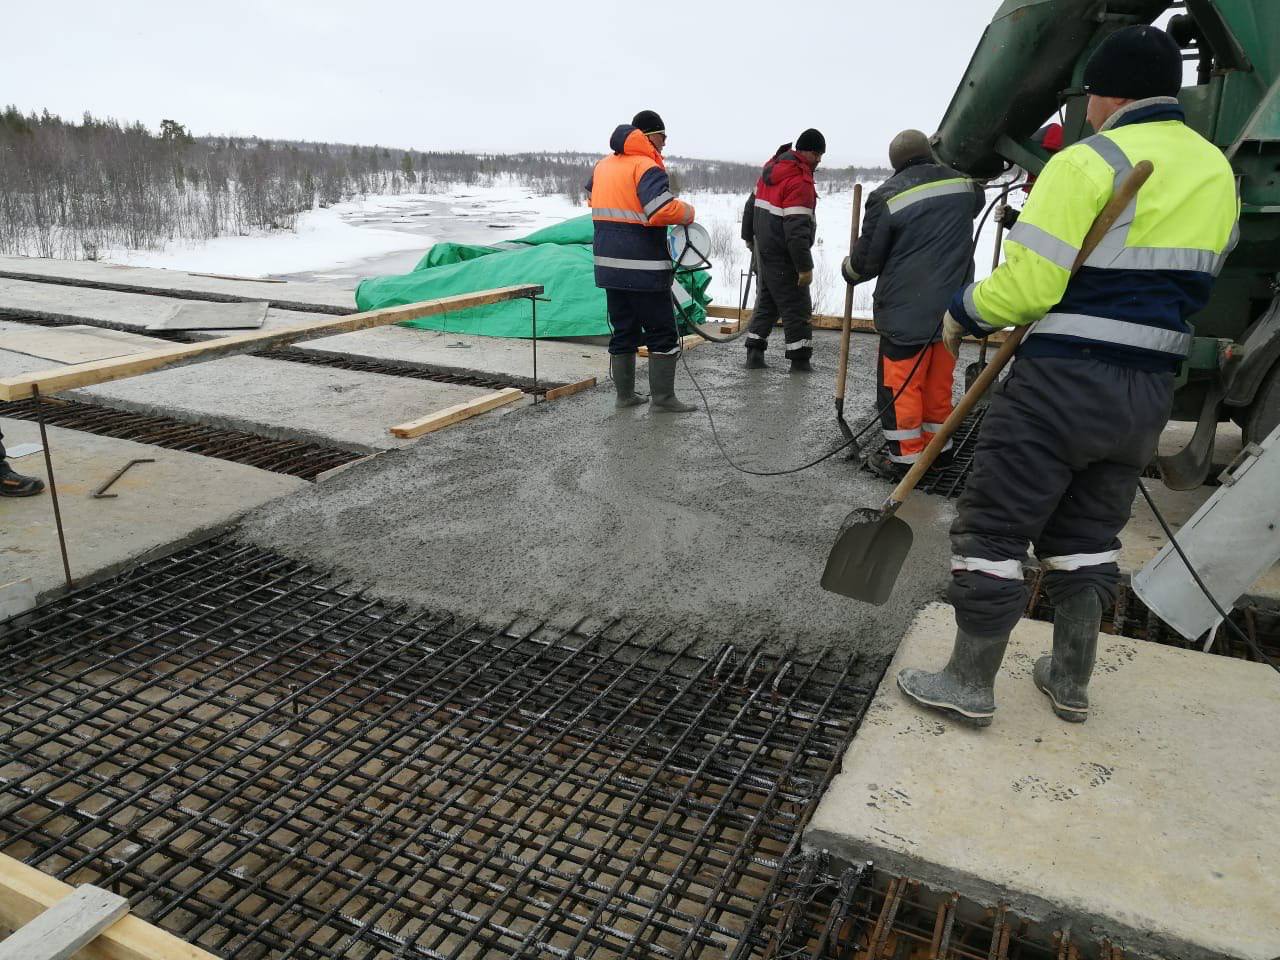
{"type": "MultiPolygon", "coordinates": [[[[38,440],[36,424],[0,417],[5,442],[38,440]]],[[[72,576],[78,581],[118,570],[151,550],[214,532],[244,511],[310,486],[306,480],[257,467],[159,447],[49,428],[67,530],[72,576]],[[131,460],[155,463],[120,477],[116,499],[90,494],[131,460]]],[[[23,472],[47,480],[44,457],[23,472]]],[[[38,595],[63,586],[61,556],[49,494],[0,499],[0,581],[29,577],[38,595]]]]}

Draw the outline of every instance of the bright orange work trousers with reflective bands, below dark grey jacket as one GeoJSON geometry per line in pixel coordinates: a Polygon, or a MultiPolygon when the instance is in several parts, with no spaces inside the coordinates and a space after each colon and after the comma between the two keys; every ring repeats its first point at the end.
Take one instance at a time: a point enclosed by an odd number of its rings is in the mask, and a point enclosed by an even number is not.
{"type": "MultiPolygon", "coordinates": [[[[951,416],[955,369],[955,357],[941,340],[925,347],[900,346],[881,337],[876,406],[883,411],[881,426],[887,440],[884,452],[890,460],[914,463],[933,434],[951,416]],[[920,351],[924,351],[924,356],[920,356],[920,351]]],[[[950,445],[951,442],[947,440],[947,447],[950,445]]]]}

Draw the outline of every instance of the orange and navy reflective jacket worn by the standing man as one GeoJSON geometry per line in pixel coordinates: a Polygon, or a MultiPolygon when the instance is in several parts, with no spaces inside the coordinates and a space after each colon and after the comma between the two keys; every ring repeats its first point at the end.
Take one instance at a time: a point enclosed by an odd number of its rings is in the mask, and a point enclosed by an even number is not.
{"type": "Polygon", "coordinates": [[[667,227],[692,223],[694,207],[672,196],[662,155],[639,129],[622,124],[609,146],[613,154],[595,165],[589,184],[595,285],[669,289],[675,270],[667,227]]]}

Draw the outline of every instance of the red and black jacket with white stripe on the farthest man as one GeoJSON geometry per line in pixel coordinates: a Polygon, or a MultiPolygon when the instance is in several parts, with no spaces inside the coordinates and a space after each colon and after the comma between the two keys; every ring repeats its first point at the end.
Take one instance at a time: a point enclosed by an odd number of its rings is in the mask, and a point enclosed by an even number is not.
{"type": "Polygon", "coordinates": [[[788,264],[796,273],[813,270],[817,212],[813,168],[790,147],[780,150],[746,198],[742,239],[755,244],[764,262],[788,264]]]}

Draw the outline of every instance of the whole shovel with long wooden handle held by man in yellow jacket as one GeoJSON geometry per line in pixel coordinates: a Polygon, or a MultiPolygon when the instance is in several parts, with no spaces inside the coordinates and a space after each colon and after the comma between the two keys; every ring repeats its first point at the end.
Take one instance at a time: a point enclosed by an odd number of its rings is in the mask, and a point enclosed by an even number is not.
{"type": "MultiPolygon", "coordinates": [[[[1138,189],[1151,177],[1152,169],[1149,161],[1140,161],[1112,193],[1111,200],[1107,201],[1102,212],[1098,214],[1098,219],[1089,228],[1084,243],[1080,244],[1080,252],[1071,266],[1073,274],[1080,268],[1080,264],[1088,260],[1093,248],[1124,212],[1138,189]]],[[[1000,344],[995,360],[978,375],[973,387],[956,403],[942,429],[933,435],[929,445],[911,465],[902,481],[893,488],[888,499],[878,508],[860,507],[845,517],[836,543],[831,548],[831,554],[827,557],[827,568],[822,573],[823,589],[865,603],[881,604],[888,599],[897,582],[899,571],[902,570],[902,562],[911,549],[911,527],[895,516],[899,507],[911,495],[915,484],[933,466],[942,447],[973,410],[978,398],[1000,376],[1000,371],[1009,364],[1030,326],[1032,324],[1019,326],[1000,344]]]]}

